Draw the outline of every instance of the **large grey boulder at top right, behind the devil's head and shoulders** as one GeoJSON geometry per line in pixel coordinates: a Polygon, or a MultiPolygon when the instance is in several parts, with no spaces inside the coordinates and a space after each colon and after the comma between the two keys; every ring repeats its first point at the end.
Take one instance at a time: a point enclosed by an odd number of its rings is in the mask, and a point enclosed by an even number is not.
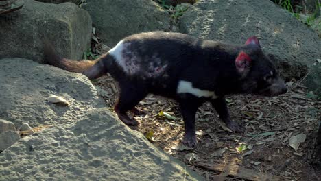
{"type": "Polygon", "coordinates": [[[180,19],[180,32],[235,44],[259,36],[283,75],[302,77],[309,69],[305,83],[321,94],[321,39],[272,1],[198,1],[180,19]]]}

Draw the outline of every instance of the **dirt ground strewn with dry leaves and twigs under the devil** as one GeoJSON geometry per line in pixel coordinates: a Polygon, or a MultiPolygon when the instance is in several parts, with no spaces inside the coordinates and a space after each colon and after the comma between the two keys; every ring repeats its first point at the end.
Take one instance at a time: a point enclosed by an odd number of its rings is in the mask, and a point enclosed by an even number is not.
{"type": "MultiPolygon", "coordinates": [[[[102,88],[99,94],[113,111],[117,83],[106,75],[94,84],[102,88]]],[[[206,180],[248,178],[242,171],[269,173],[289,180],[320,180],[321,170],[313,167],[312,162],[321,102],[307,98],[307,90],[300,81],[292,81],[289,86],[293,89],[278,97],[227,97],[231,117],[243,125],[243,133],[229,132],[210,104],[201,106],[196,116],[195,149],[181,144],[184,126],[179,107],[163,97],[149,95],[141,101],[137,107],[146,114],[132,114],[141,123],[132,129],[139,130],[154,145],[185,162],[206,180]],[[169,116],[160,116],[161,111],[169,116]],[[306,138],[295,151],[289,140],[298,134],[305,134],[306,138]],[[233,173],[235,169],[237,173],[233,173]]]]}

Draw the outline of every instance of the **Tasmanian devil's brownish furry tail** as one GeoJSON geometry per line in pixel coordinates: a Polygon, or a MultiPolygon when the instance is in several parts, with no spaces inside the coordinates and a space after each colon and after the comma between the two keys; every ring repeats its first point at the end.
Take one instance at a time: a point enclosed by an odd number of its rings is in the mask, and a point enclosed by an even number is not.
{"type": "Polygon", "coordinates": [[[74,61],[62,58],[56,50],[53,48],[48,40],[44,40],[44,53],[45,64],[51,64],[60,69],[64,69],[71,72],[82,73],[86,75],[90,80],[102,77],[107,73],[107,69],[104,66],[104,58],[106,56],[100,56],[96,60],[82,60],[74,61]]]}

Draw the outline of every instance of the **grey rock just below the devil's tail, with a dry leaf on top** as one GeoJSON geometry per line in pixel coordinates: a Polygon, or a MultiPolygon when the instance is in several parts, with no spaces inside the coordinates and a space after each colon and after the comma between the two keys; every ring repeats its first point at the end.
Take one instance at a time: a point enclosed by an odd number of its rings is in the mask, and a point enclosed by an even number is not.
{"type": "Polygon", "coordinates": [[[77,121],[84,110],[105,105],[87,77],[31,60],[0,59],[0,77],[0,115],[16,128],[25,122],[35,127],[77,121]],[[51,94],[64,97],[71,105],[48,103],[51,94]]]}

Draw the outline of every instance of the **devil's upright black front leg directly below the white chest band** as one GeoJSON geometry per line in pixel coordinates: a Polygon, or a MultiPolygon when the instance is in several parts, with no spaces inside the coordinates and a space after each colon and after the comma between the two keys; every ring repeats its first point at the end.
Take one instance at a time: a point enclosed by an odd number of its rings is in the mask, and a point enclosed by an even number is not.
{"type": "Polygon", "coordinates": [[[180,99],[180,112],[184,121],[185,136],[182,140],[184,145],[188,147],[195,147],[197,145],[195,134],[195,114],[200,106],[197,97],[191,96],[189,99],[180,99]]]}

